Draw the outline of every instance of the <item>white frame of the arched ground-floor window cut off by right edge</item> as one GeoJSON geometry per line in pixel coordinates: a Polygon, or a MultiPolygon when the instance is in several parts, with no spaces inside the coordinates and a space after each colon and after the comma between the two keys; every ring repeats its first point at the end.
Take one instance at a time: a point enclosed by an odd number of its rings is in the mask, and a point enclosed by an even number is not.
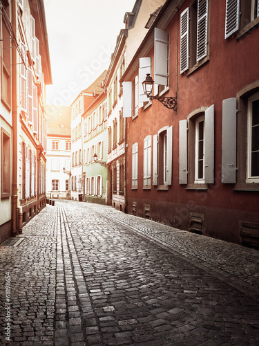
{"type": "Polygon", "coordinates": [[[251,141],[252,141],[252,103],[259,100],[259,92],[248,99],[247,104],[247,179],[246,183],[259,183],[259,176],[251,176],[251,141]]]}

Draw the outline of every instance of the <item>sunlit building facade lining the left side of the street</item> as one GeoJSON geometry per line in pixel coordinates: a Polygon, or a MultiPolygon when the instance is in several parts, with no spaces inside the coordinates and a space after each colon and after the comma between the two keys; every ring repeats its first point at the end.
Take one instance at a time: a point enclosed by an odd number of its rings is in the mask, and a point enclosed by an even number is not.
{"type": "Polygon", "coordinates": [[[52,83],[42,1],[1,1],[1,241],[46,206],[45,86],[52,83]]]}

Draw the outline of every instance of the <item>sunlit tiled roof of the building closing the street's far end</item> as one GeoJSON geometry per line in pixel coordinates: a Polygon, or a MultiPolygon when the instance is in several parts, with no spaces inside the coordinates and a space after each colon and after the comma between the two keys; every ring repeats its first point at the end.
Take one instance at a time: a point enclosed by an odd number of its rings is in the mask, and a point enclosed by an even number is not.
{"type": "Polygon", "coordinates": [[[71,108],[47,104],[47,136],[71,136],[71,108]]]}

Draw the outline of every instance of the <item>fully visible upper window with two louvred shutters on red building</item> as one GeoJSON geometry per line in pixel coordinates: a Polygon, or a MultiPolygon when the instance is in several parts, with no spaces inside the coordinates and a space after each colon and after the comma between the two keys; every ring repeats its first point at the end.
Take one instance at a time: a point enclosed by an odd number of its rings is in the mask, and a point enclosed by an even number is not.
{"type": "MultiPolygon", "coordinates": [[[[181,13],[180,73],[208,57],[209,0],[195,0],[181,13]]],[[[205,60],[207,61],[207,60],[205,60]]],[[[197,66],[200,66],[197,65],[197,66]]]]}

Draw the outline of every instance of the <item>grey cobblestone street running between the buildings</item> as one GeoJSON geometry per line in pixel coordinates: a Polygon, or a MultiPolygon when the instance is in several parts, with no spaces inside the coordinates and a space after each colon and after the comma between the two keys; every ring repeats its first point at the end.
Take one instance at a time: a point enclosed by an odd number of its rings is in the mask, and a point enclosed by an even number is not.
{"type": "Polygon", "coordinates": [[[77,201],[20,237],[0,246],[1,345],[259,345],[259,251],[77,201]]]}

